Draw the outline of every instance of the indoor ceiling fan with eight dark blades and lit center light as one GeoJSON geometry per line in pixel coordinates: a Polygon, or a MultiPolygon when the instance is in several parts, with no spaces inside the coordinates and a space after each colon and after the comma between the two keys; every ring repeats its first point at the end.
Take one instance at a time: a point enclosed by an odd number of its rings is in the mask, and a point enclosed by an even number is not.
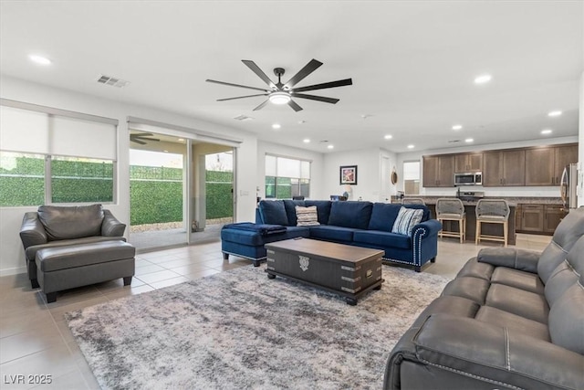
{"type": "Polygon", "coordinates": [[[289,79],[287,83],[282,83],[281,78],[284,75],[283,68],[276,68],[274,69],[274,74],[277,76],[277,82],[273,82],[266,76],[266,73],[262,69],[259,69],[257,65],[255,65],[254,61],[250,61],[248,59],[242,59],[242,62],[247,66],[247,68],[252,69],[252,71],[262,79],[267,86],[269,87],[268,90],[263,88],[256,88],[256,87],[248,87],[241,84],[233,84],[230,82],[224,81],[217,81],[214,79],[206,79],[207,82],[214,82],[215,84],[223,84],[228,85],[231,87],[239,87],[239,88],[246,88],[248,90],[261,90],[263,93],[258,93],[255,95],[246,95],[246,96],[238,96],[235,98],[226,98],[226,99],[218,99],[217,101],[225,101],[225,100],[235,100],[235,99],[246,99],[246,98],[254,98],[256,96],[267,96],[267,99],[261,103],[259,106],[255,107],[254,111],[260,110],[266,106],[267,102],[270,101],[274,104],[287,104],[290,106],[294,111],[302,110],[296,101],[292,100],[292,98],[300,98],[300,99],[309,99],[309,100],[318,100],[324,101],[325,103],[336,104],[339,99],[334,98],[326,98],[324,96],[317,96],[317,95],[308,95],[306,92],[308,90],[324,90],[327,88],[335,88],[335,87],[343,87],[346,85],[352,85],[352,79],[340,79],[337,81],[329,81],[322,84],[314,84],[308,85],[307,87],[300,87],[294,88],[297,83],[305,79],[310,73],[314,72],[318,67],[322,65],[322,62],[311,59],[304,68],[300,69],[292,79],[289,79]]]}

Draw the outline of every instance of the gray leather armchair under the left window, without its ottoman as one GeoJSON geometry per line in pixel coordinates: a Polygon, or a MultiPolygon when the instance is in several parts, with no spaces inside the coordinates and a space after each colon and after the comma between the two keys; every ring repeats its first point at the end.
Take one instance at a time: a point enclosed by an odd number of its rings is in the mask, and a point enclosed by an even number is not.
{"type": "Polygon", "coordinates": [[[40,206],[26,213],[20,227],[25,248],[28,279],[38,288],[36,252],[44,248],[67,247],[101,241],[125,241],[126,225],[101,205],[40,206]]]}

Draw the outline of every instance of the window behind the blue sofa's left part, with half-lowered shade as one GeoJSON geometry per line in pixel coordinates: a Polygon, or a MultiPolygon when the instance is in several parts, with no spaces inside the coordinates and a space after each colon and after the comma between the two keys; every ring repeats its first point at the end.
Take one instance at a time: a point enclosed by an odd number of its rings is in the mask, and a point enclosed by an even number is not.
{"type": "Polygon", "coordinates": [[[266,198],[310,194],[310,162],[266,154],[266,198]]]}

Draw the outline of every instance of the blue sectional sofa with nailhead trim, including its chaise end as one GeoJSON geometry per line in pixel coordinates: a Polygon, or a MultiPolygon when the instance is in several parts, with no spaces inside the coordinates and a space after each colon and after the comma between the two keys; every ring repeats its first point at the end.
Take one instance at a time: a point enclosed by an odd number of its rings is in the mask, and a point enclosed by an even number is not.
{"type": "Polygon", "coordinates": [[[422,221],[410,235],[391,233],[402,205],[371,202],[334,202],[319,200],[269,200],[258,204],[255,224],[226,225],[221,231],[224,258],[229,255],[249,258],[254,265],[266,259],[264,245],[295,237],[308,237],[339,244],[385,251],[383,259],[412,266],[420,272],[434,261],[440,222],[431,219],[423,205],[403,205],[422,209],[422,221]],[[297,226],[296,206],[316,206],[317,226],[297,226]]]}

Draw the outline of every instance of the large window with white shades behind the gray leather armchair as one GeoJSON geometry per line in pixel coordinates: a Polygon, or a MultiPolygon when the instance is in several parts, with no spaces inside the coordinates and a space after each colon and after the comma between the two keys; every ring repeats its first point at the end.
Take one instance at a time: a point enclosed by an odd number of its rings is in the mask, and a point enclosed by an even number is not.
{"type": "Polygon", "coordinates": [[[118,121],[2,104],[0,206],[114,201],[118,121]]]}

